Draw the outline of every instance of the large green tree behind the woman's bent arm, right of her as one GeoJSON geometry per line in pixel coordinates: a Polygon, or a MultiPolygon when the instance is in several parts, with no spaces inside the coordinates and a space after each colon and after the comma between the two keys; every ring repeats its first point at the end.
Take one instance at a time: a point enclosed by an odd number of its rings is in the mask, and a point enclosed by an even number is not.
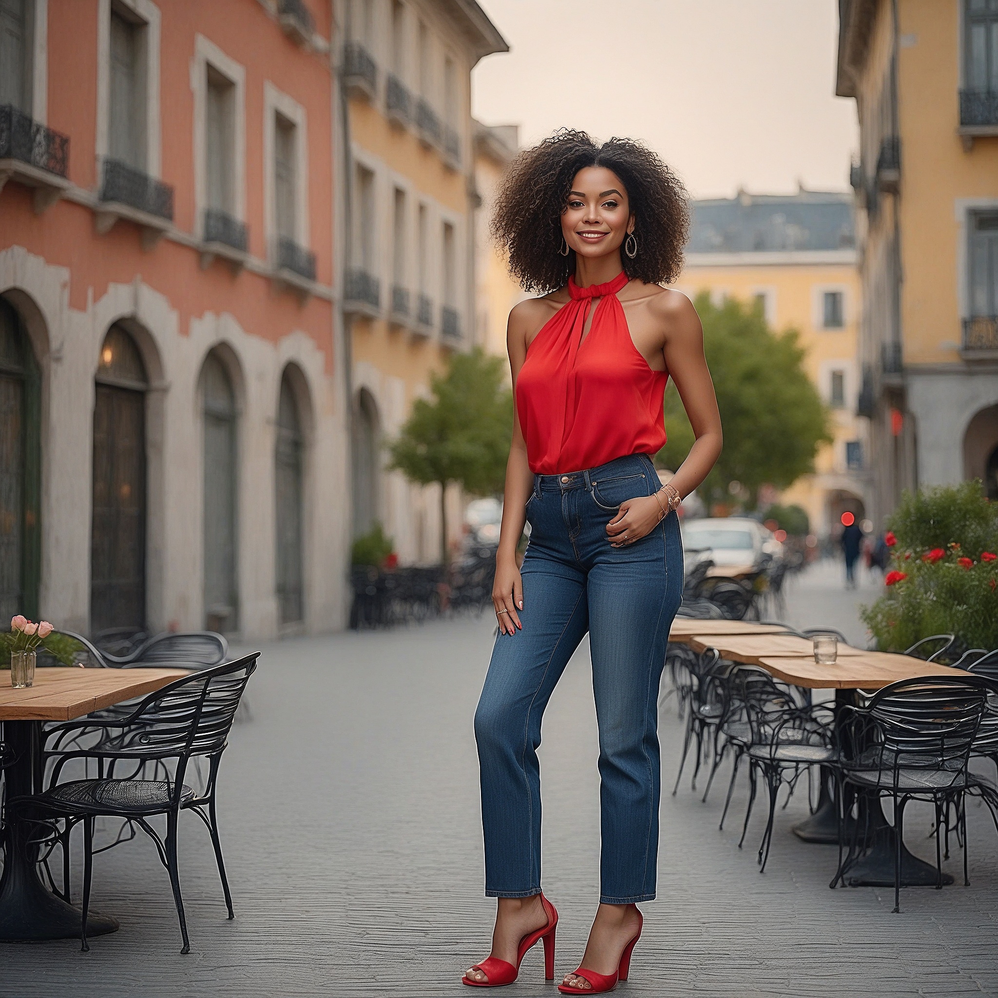
{"type": "MultiPolygon", "coordinates": [[[[830,442],[827,412],[804,372],[804,350],[793,329],[773,333],[761,309],[728,299],[721,307],[705,292],[697,298],[704,349],[718,393],[725,446],[704,483],[704,498],[724,500],[732,482],[748,490],[754,508],[758,487],[785,488],[814,468],[821,443],[830,442]]],[[[657,463],[678,468],[694,434],[676,386],[666,391],[669,443],[657,463]]]]}

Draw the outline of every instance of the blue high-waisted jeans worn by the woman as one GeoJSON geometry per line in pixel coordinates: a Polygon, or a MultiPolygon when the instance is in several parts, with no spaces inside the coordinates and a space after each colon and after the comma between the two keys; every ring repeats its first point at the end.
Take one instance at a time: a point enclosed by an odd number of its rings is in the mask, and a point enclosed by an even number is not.
{"type": "Polygon", "coordinates": [[[646,454],[534,477],[523,630],[496,638],[475,712],[489,897],[541,890],[541,718],[587,631],[600,731],[600,900],[655,897],[659,683],[683,596],[683,545],[675,513],[622,548],[610,546],[606,526],[625,499],[658,488],[646,454]]]}

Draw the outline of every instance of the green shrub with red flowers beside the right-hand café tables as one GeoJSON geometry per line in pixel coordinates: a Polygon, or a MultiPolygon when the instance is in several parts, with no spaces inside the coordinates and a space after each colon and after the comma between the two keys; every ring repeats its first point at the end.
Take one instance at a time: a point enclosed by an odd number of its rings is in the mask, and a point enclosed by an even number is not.
{"type": "Polygon", "coordinates": [[[904,495],[887,523],[887,591],[861,611],[878,648],[903,652],[933,634],[998,648],[996,505],[979,481],[904,495]]]}

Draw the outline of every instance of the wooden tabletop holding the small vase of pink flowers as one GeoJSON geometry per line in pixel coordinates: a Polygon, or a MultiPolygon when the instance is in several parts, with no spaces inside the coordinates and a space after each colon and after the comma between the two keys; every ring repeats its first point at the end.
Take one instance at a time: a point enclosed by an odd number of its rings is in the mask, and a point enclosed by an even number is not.
{"type": "Polygon", "coordinates": [[[3,671],[0,721],[72,721],[190,675],[184,669],[38,669],[34,686],[15,690],[3,671]]]}

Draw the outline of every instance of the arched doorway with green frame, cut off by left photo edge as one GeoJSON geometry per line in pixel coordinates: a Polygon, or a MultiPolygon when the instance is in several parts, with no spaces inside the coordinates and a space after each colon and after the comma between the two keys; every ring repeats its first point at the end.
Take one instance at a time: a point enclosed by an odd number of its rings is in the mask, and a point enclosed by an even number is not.
{"type": "Polygon", "coordinates": [[[0,298],[0,621],[38,617],[41,378],[20,316],[0,298]]]}

